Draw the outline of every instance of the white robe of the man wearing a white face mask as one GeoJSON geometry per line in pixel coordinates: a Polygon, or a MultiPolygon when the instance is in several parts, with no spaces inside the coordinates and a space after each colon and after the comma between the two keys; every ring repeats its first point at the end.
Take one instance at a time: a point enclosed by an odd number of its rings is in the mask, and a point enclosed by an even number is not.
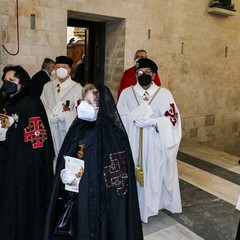
{"type": "Polygon", "coordinates": [[[77,116],[76,107],[80,98],[82,98],[82,86],[70,77],[63,83],[56,79],[46,83],[43,87],[41,100],[47,112],[56,157],[70,125],[77,116]],[[59,92],[58,89],[60,89],[59,92]],[[61,112],[61,118],[52,121],[53,110],[60,102],[68,103],[70,111],[61,112]]]}

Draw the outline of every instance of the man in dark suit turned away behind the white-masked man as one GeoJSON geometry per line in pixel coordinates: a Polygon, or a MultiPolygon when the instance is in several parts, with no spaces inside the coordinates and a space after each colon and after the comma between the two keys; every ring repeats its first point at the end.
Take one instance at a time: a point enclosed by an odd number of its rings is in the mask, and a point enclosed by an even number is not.
{"type": "Polygon", "coordinates": [[[40,97],[43,86],[51,80],[50,76],[54,75],[55,62],[50,58],[45,58],[42,68],[38,71],[30,81],[30,93],[34,97],[40,97]]]}

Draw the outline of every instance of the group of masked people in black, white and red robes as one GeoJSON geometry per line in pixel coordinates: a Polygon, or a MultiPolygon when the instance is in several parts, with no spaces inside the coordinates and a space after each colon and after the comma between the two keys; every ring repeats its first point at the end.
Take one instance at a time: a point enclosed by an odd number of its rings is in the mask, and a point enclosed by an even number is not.
{"type": "Polygon", "coordinates": [[[138,50],[110,90],[44,59],[32,79],[3,69],[0,236],[4,240],[142,240],[142,222],[182,211],[181,118],[157,64],[138,50]]]}

